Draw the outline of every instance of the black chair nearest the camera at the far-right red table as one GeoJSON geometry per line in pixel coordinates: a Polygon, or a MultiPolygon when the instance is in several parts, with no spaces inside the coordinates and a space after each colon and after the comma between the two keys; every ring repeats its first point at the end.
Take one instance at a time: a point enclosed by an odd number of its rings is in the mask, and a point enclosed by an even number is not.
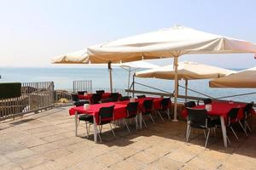
{"type": "Polygon", "coordinates": [[[191,127],[199,128],[204,130],[204,134],[206,137],[205,147],[207,147],[207,141],[209,138],[209,134],[211,132],[211,128],[216,126],[215,121],[212,121],[207,116],[207,110],[205,109],[187,108],[187,110],[189,112],[188,127],[187,127],[187,134],[186,134],[187,142],[189,141],[191,127]],[[206,134],[206,130],[208,131],[207,134],[206,134]]]}

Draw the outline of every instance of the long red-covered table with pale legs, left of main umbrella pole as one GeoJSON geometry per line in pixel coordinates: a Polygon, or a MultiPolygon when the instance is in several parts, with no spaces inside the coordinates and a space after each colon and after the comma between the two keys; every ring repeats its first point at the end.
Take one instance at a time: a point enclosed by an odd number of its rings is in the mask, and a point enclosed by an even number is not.
{"type": "MultiPolygon", "coordinates": [[[[153,99],[154,109],[160,109],[160,101],[161,98],[143,98],[143,99],[135,99],[135,101],[139,102],[139,108],[143,108],[143,101],[145,99],[153,99]]],[[[79,114],[89,114],[93,116],[94,122],[94,141],[97,142],[97,123],[99,122],[99,110],[101,107],[109,107],[114,105],[113,108],[113,120],[119,120],[126,117],[126,106],[129,103],[128,101],[119,101],[119,102],[108,102],[96,105],[90,105],[90,108],[85,110],[84,106],[73,107],[69,110],[70,116],[75,116],[75,135],[78,135],[78,115],[79,114]]],[[[139,112],[138,119],[139,119],[139,126],[142,128],[142,112],[139,112]]]]}

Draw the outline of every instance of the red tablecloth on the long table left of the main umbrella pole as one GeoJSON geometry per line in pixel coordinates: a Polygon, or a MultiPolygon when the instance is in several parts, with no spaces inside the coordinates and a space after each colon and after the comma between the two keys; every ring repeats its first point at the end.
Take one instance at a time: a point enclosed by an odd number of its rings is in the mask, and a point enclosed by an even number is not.
{"type": "MultiPolygon", "coordinates": [[[[161,98],[143,98],[143,99],[136,99],[139,102],[139,107],[143,107],[143,101],[145,99],[153,99],[154,102],[154,109],[160,109],[160,101],[161,98]]],[[[119,101],[119,102],[109,102],[109,103],[102,103],[96,105],[90,105],[90,109],[84,110],[84,106],[80,107],[73,107],[69,110],[69,115],[72,116],[77,111],[79,114],[89,114],[96,117],[96,122],[99,122],[99,111],[101,107],[109,107],[114,105],[113,109],[113,120],[122,119],[126,116],[126,106],[129,103],[128,101],[119,101]]]]}

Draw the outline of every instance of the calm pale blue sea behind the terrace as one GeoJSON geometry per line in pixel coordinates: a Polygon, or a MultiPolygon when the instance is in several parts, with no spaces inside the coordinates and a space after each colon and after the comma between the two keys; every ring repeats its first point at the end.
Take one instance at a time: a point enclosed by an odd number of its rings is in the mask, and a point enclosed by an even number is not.
{"type": "MultiPolygon", "coordinates": [[[[231,69],[240,71],[242,69],[231,69]]],[[[128,87],[128,71],[122,68],[113,68],[113,88],[128,87]]],[[[109,88],[109,73],[107,68],[70,68],[70,67],[52,67],[52,68],[0,68],[0,82],[54,82],[55,89],[72,89],[73,81],[91,80],[92,88],[109,88]]],[[[131,77],[132,82],[132,77],[131,77]]],[[[135,78],[135,82],[140,84],[135,85],[135,89],[144,91],[173,92],[174,81],[162,80],[157,78],[135,78]],[[153,88],[148,88],[153,87],[153,88]]],[[[206,97],[202,94],[207,94],[213,98],[222,98],[236,94],[248,94],[236,97],[223,98],[227,100],[256,102],[256,89],[254,88],[209,88],[209,80],[191,80],[188,83],[188,95],[197,97],[206,97]]],[[[184,81],[179,81],[179,85],[184,87],[184,81]]],[[[179,88],[179,94],[184,94],[184,88],[179,88]]]]}

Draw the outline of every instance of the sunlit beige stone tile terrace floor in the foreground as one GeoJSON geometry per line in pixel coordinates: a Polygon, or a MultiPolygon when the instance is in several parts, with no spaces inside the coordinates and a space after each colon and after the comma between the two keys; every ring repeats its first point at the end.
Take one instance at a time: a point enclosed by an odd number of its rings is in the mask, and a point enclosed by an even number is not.
{"type": "Polygon", "coordinates": [[[256,169],[256,129],[249,137],[241,132],[239,142],[230,133],[224,148],[221,133],[211,134],[207,150],[201,131],[194,130],[185,143],[185,122],[148,120],[148,128],[116,127],[113,137],[103,127],[102,144],[74,136],[74,119],[67,108],[0,123],[1,169],[256,169]]]}

